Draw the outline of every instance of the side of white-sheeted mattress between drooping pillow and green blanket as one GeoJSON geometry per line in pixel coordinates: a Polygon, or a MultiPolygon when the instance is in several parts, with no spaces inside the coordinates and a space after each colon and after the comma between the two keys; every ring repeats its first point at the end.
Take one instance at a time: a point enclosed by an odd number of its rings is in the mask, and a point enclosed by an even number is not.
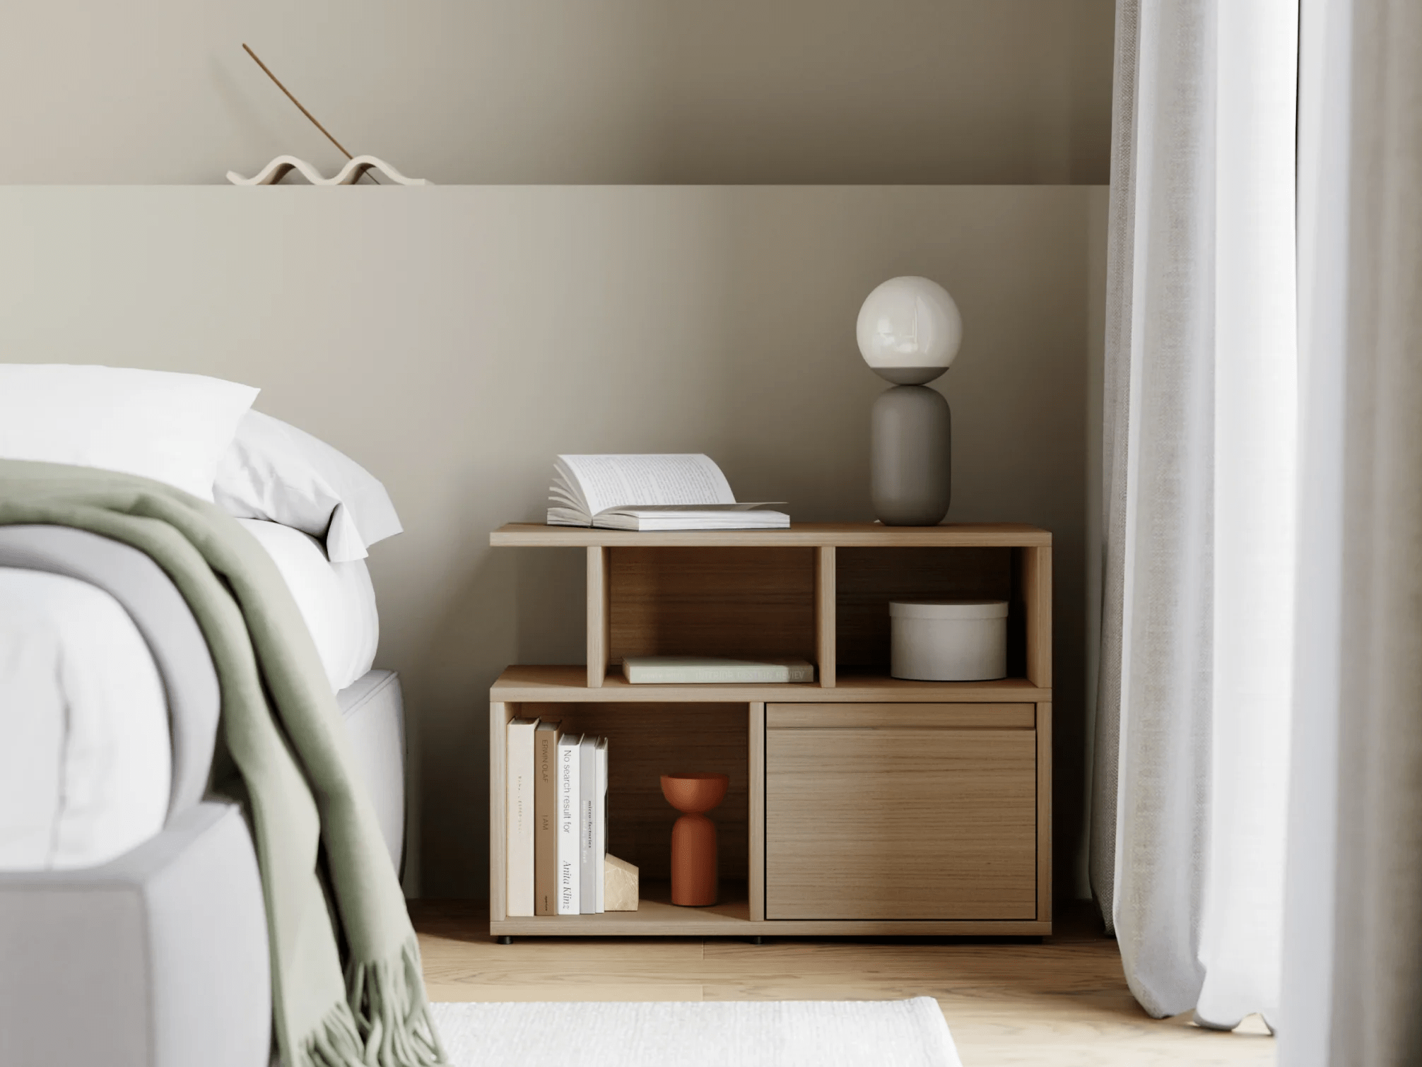
{"type": "Polygon", "coordinates": [[[276,561],[338,693],[375,663],[380,615],[364,559],[331,563],[321,542],[292,526],[237,519],[276,561]]]}

